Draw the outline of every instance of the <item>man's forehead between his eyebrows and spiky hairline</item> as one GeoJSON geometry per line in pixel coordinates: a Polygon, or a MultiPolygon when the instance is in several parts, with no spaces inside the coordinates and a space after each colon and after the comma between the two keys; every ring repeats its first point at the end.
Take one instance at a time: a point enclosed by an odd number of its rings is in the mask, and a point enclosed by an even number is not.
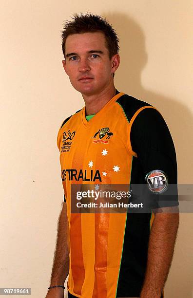
{"type": "Polygon", "coordinates": [[[71,52],[87,52],[90,50],[108,51],[105,36],[102,32],[87,32],[69,35],[65,43],[66,54],[71,52]]]}

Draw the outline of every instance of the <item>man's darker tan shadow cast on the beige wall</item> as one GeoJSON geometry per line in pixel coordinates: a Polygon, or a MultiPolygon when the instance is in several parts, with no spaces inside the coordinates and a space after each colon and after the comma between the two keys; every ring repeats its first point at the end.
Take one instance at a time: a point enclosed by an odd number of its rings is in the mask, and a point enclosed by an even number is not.
{"type": "MultiPolygon", "coordinates": [[[[136,21],[123,14],[102,13],[101,15],[113,24],[120,39],[121,63],[115,76],[116,88],[152,104],[161,112],[174,139],[178,163],[178,183],[191,183],[193,181],[190,164],[193,146],[193,115],[185,105],[175,98],[154,93],[142,86],[141,73],[148,62],[148,53],[146,53],[143,30],[136,21]]],[[[161,77],[159,76],[157,79],[161,80],[161,77]]],[[[172,81],[171,77],[171,84],[172,81]]],[[[190,217],[188,221],[190,224],[190,217]]],[[[168,297],[192,298],[193,254],[191,245],[187,243],[187,238],[182,240],[180,235],[181,233],[184,235],[183,230],[185,235],[188,235],[188,222],[185,222],[180,225],[174,260],[166,285],[165,294],[168,297]],[[182,243],[183,248],[180,247],[182,243]]]]}

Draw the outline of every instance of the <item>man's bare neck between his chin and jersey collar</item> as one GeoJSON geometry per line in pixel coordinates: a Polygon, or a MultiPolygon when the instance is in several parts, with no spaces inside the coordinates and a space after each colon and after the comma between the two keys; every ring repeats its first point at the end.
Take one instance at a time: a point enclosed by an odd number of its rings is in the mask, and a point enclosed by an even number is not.
{"type": "Polygon", "coordinates": [[[82,94],[86,106],[86,115],[93,115],[99,112],[115,94],[116,88],[114,85],[97,94],[82,94]]]}

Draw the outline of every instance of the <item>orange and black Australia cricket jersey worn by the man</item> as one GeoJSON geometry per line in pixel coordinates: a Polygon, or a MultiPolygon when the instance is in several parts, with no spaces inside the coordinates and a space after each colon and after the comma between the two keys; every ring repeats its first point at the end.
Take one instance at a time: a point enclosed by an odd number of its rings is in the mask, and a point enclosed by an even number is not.
{"type": "Polygon", "coordinates": [[[76,198],[71,196],[71,187],[145,183],[146,174],[154,169],[167,172],[174,183],[176,161],[171,142],[169,130],[154,107],[118,92],[89,121],[83,107],[61,125],[58,149],[70,249],[67,289],[75,297],[140,296],[154,215],[72,213],[71,205],[76,198]],[[161,127],[161,133],[164,127],[168,134],[168,137],[164,135],[170,147],[167,154],[159,134],[154,136],[156,150],[149,148],[152,144],[148,147],[149,135],[154,129],[148,130],[154,120],[147,127],[144,121],[150,117],[156,121],[158,130],[161,127]],[[142,131],[147,130],[142,132],[143,136],[140,127],[142,131]],[[148,152],[144,153],[146,147],[148,152]],[[165,162],[163,156],[166,156],[165,162]],[[168,160],[173,163],[172,170],[168,160]]]}

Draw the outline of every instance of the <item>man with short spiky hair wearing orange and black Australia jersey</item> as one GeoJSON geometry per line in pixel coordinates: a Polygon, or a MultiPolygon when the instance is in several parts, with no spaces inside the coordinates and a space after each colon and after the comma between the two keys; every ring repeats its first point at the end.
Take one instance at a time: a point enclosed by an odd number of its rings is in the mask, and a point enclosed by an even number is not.
{"type": "Polygon", "coordinates": [[[178,205],[176,196],[152,213],[88,214],[71,207],[76,186],[147,183],[154,198],[176,184],[170,132],[154,107],[116,90],[118,38],[106,19],[75,15],[62,32],[62,49],[64,70],[85,107],[58,132],[64,203],[46,298],[63,297],[68,274],[70,298],[163,297],[179,222],[177,212],[163,210],[178,205]]]}

